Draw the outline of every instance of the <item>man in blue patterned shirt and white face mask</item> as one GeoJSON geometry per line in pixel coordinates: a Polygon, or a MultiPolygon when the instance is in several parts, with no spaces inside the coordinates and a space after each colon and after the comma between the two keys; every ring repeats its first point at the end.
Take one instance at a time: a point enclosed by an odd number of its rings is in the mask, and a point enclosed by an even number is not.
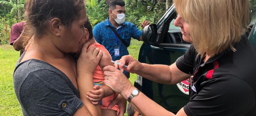
{"type": "MultiPolygon", "coordinates": [[[[106,21],[97,24],[93,29],[95,40],[109,51],[112,60],[119,60],[122,56],[129,55],[127,47],[131,43],[131,37],[142,41],[142,31],[130,22],[125,21],[125,2],[123,0],[112,0],[109,3],[109,17],[106,21]],[[125,41],[122,42],[118,36],[111,30],[113,28],[125,41]],[[127,47],[126,45],[127,44],[127,47]]],[[[148,21],[143,21],[142,29],[149,25],[148,21]]],[[[127,78],[129,73],[124,71],[127,78]]]]}

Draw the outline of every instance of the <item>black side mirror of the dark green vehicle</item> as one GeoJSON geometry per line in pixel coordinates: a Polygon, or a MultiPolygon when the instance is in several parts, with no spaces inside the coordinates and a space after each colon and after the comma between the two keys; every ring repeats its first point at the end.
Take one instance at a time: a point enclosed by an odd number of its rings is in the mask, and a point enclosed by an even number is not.
{"type": "Polygon", "coordinates": [[[150,45],[156,44],[156,34],[157,26],[156,24],[151,24],[146,26],[142,31],[142,40],[150,45]]]}

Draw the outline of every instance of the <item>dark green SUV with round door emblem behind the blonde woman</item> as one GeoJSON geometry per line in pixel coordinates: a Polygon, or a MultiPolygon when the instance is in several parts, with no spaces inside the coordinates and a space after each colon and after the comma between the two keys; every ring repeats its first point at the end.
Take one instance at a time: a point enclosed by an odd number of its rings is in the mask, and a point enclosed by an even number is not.
{"type": "MultiPolygon", "coordinates": [[[[157,24],[143,29],[140,62],[171,65],[187,51],[191,44],[182,39],[180,28],[173,25],[176,17],[175,6],[172,5],[157,24]]],[[[256,13],[252,10],[251,29],[246,34],[256,48],[255,20],[256,13]]],[[[170,112],[178,112],[189,101],[189,79],[177,85],[164,85],[137,75],[134,86],[170,112]]]]}

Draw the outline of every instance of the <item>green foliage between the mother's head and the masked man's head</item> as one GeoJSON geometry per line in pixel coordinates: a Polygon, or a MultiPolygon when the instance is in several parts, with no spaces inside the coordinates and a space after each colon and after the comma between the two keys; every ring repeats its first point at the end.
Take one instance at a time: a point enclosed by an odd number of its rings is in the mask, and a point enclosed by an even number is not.
{"type": "Polygon", "coordinates": [[[97,25],[98,23],[104,21],[107,19],[108,15],[108,5],[104,4],[105,0],[98,2],[95,2],[95,0],[87,1],[86,4],[86,12],[90,19],[90,23],[92,27],[97,25]],[[93,7],[93,4],[95,4],[95,7],[93,7]]]}

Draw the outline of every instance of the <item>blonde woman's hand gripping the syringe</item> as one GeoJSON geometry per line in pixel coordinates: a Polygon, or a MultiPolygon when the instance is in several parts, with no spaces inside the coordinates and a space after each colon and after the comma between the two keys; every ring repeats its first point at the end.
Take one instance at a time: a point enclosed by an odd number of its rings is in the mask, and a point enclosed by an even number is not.
{"type": "Polygon", "coordinates": [[[137,73],[143,68],[143,65],[131,55],[123,56],[120,60],[116,60],[116,62],[121,65],[115,63],[115,68],[119,68],[122,72],[125,70],[129,73],[137,73]],[[124,65],[128,67],[126,68],[124,65]]]}

